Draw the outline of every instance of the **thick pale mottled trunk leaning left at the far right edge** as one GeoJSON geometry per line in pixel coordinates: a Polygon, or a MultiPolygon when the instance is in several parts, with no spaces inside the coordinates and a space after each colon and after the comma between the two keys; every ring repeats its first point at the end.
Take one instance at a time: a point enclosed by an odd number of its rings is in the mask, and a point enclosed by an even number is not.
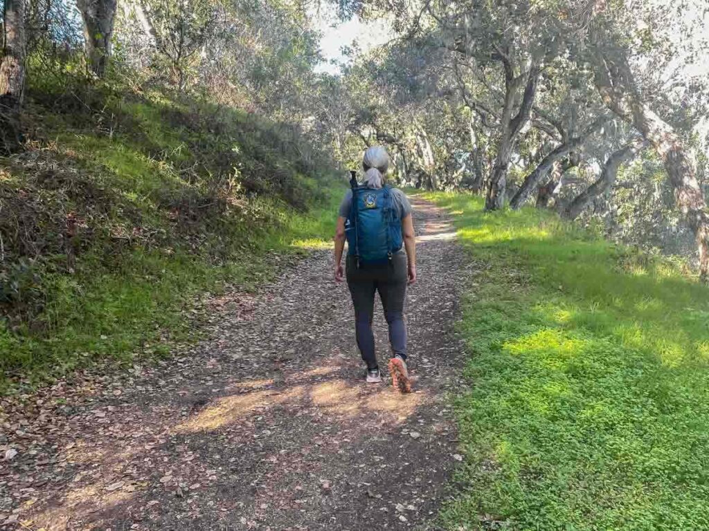
{"type": "Polygon", "coordinates": [[[677,205],[696,236],[700,279],[709,283],[709,212],[693,154],[674,127],[642,101],[627,57],[618,54],[611,58],[597,52],[595,63],[596,88],[605,105],[634,125],[664,162],[677,205]]]}

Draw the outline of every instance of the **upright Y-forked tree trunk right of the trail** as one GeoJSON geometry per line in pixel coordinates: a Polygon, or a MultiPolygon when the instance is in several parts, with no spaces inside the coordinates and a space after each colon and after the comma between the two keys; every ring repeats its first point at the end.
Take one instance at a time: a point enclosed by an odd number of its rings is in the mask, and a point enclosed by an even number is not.
{"type": "Polygon", "coordinates": [[[520,134],[522,127],[524,127],[530,119],[532,103],[534,103],[534,98],[537,93],[539,74],[539,67],[532,64],[530,72],[527,74],[527,85],[525,86],[520,110],[517,115],[512,118],[518,83],[513,79],[513,74],[510,72],[510,69],[506,68],[506,91],[505,105],[501,117],[501,139],[485,198],[485,210],[498,210],[505,204],[507,169],[510,166],[510,156],[512,156],[515,140],[520,134]]]}

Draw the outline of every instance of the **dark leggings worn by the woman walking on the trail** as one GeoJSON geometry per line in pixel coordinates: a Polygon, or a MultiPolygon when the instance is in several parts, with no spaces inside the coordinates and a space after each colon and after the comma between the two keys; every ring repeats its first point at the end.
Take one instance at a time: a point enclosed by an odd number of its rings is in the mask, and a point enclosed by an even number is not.
{"type": "Polygon", "coordinates": [[[389,343],[393,355],[406,360],[406,324],[403,321],[404,299],[406,299],[406,254],[396,253],[390,263],[362,264],[359,268],[354,258],[347,256],[347,286],[350,287],[354,304],[354,330],[357,346],[367,368],[379,365],[374,353],[374,293],[379,292],[384,316],[389,325],[389,343]]]}

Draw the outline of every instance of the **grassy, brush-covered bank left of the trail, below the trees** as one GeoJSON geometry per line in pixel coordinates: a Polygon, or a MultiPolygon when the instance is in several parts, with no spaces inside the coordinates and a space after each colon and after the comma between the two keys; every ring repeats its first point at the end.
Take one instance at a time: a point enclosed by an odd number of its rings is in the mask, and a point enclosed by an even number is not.
{"type": "Polygon", "coordinates": [[[302,251],[334,231],[328,176],[281,152],[287,139],[266,120],[220,110],[216,133],[194,119],[216,109],[194,102],[153,94],[107,105],[99,121],[122,122],[110,135],[81,110],[40,108],[40,149],[0,159],[0,388],[161,353],[161,338],[192,333],[186,310],[201,292],[249,289],[272,274],[272,251],[302,251]],[[215,176],[230,165],[227,189],[215,176]],[[245,185],[259,194],[247,198],[245,185]]]}

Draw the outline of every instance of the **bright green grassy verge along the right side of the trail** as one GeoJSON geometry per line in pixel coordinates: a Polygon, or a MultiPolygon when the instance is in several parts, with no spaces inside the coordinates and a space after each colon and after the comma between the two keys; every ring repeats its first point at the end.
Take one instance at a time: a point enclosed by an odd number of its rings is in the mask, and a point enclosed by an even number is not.
{"type": "Polygon", "coordinates": [[[434,198],[481,264],[447,527],[709,529],[709,290],[548,212],[434,198]]]}

